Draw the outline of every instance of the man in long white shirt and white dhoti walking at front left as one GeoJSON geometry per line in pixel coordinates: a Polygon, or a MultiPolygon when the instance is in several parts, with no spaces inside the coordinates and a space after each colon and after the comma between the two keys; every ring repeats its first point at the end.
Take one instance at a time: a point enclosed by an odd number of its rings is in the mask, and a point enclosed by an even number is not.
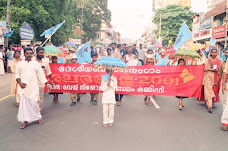
{"type": "Polygon", "coordinates": [[[39,63],[32,60],[33,51],[31,48],[24,49],[25,60],[18,62],[15,72],[16,81],[19,84],[18,95],[20,105],[18,110],[18,121],[23,123],[20,128],[24,129],[29,123],[39,121],[43,124],[42,115],[38,105],[39,81],[47,83],[47,79],[39,63]]]}

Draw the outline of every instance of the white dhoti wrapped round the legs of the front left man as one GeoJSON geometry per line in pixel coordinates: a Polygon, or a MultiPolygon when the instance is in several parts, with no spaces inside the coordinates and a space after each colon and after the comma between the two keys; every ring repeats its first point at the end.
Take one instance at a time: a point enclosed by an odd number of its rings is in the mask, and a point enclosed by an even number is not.
{"type": "Polygon", "coordinates": [[[28,99],[25,95],[20,97],[20,105],[17,114],[17,119],[19,122],[24,123],[27,121],[28,123],[38,121],[42,118],[40,114],[40,108],[37,101],[33,101],[28,99]]]}

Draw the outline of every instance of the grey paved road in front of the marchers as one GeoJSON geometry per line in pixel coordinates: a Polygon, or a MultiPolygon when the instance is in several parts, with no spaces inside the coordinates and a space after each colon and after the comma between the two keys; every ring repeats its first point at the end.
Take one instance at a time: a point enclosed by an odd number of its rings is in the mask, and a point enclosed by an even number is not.
{"type": "MultiPolygon", "coordinates": [[[[8,81],[4,76],[4,81],[8,81]]],[[[9,93],[2,86],[0,96],[9,93]]],[[[15,99],[0,102],[0,151],[226,151],[228,132],[220,130],[221,104],[213,114],[195,99],[178,110],[175,97],[155,97],[160,109],[146,106],[142,96],[125,96],[115,109],[112,128],[102,127],[102,106],[90,104],[89,94],[70,107],[69,94],[52,103],[45,94],[44,125],[19,129],[15,99]]]]}

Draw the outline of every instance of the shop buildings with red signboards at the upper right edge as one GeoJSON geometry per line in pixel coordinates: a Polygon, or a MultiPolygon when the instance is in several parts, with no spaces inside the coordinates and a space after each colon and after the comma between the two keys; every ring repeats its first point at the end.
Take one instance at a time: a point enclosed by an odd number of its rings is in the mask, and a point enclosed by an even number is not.
{"type": "Polygon", "coordinates": [[[226,9],[227,0],[208,0],[205,14],[195,14],[193,18],[193,38],[197,42],[206,43],[210,38],[216,39],[216,48],[223,50],[227,44],[226,9]]]}

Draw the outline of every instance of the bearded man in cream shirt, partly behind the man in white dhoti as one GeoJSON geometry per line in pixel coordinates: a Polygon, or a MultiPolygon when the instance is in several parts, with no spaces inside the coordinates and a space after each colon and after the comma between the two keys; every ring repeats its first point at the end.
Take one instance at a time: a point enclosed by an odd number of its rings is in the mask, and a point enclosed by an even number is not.
{"type": "MultiPolygon", "coordinates": [[[[40,64],[42,71],[45,76],[48,76],[51,80],[51,85],[53,85],[53,79],[51,76],[51,69],[49,66],[49,59],[44,57],[44,48],[37,47],[36,48],[36,61],[40,64]]],[[[45,85],[39,82],[39,93],[40,93],[40,99],[38,101],[40,106],[40,111],[43,110],[43,102],[44,102],[44,87],[45,85]]]]}

